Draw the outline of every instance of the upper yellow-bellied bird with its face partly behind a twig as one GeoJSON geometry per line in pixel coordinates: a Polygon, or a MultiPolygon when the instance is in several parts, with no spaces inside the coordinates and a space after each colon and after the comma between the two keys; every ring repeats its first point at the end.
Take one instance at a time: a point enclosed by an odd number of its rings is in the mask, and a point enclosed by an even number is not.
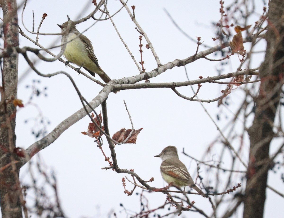
{"type": "MultiPolygon", "coordinates": [[[[67,29],[68,21],[62,25],[57,25],[61,28],[61,32],[63,33],[67,29]]],[[[63,35],[61,44],[63,44],[63,35]]],[[[67,44],[63,55],[68,62],[72,62],[80,68],[83,67],[92,76],[95,76],[95,73],[98,74],[105,83],[111,80],[99,66],[91,41],[83,34],[80,35],[74,23],[72,23],[71,31],[67,37],[67,44]]]]}

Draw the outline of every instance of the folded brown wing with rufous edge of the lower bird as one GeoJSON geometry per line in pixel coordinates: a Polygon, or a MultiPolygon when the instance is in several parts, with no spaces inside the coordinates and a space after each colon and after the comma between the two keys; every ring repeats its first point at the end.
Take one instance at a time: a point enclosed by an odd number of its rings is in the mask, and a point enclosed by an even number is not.
{"type": "Polygon", "coordinates": [[[181,181],[193,181],[185,165],[179,160],[168,159],[162,162],[160,170],[169,176],[180,179],[181,181]]]}

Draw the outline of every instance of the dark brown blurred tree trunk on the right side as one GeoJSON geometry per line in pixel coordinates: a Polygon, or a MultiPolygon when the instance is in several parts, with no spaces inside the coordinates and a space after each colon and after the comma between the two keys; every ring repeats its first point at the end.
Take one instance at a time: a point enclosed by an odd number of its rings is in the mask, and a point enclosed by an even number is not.
{"type": "Polygon", "coordinates": [[[271,160],[269,146],[275,136],[272,127],[284,71],[284,1],[271,0],[268,10],[266,55],[260,67],[260,90],[256,99],[255,117],[249,129],[250,156],[244,196],[244,218],[261,218],[266,199],[266,183],[271,160]]]}

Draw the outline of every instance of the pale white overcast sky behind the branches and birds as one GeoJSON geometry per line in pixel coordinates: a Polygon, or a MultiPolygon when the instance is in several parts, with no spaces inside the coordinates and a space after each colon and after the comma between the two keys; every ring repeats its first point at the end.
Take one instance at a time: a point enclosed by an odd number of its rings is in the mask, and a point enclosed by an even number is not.
{"type": "MultiPolygon", "coordinates": [[[[85,4],[89,2],[89,7],[80,16],[80,18],[89,14],[94,10],[94,6],[89,1],[37,1],[29,0],[26,5],[23,20],[27,28],[32,30],[32,10],[35,16],[35,29],[41,20],[43,13],[48,16],[41,25],[40,32],[42,33],[59,33],[60,28],[57,24],[62,24],[67,21],[67,15],[71,20],[76,20],[76,17],[85,4]]],[[[256,1],[259,14],[254,14],[251,18],[254,24],[262,13],[263,1],[256,1]]],[[[229,2],[225,1],[225,5],[229,2]]],[[[191,37],[201,37],[201,41],[205,41],[209,46],[215,46],[216,43],[212,40],[215,37],[215,27],[212,22],[216,23],[220,20],[219,0],[207,1],[165,1],[165,0],[144,0],[144,1],[128,1],[128,7],[135,5],[135,16],[141,27],[147,33],[151,40],[156,53],[158,54],[162,64],[168,63],[175,59],[184,59],[196,51],[196,42],[187,39],[174,24],[164,11],[168,10],[176,23],[191,37]]],[[[110,14],[116,12],[121,7],[119,1],[108,1],[108,10],[110,14]]],[[[23,31],[32,37],[35,35],[29,34],[21,24],[19,12],[19,23],[23,31]]],[[[99,17],[99,13],[95,14],[99,17]]],[[[123,8],[118,14],[113,17],[113,20],[118,28],[124,41],[130,48],[132,54],[137,61],[140,61],[139,53],[139,33],[134,29],[135,25],[131,21],[127,11],[123,8]]],[[[95,21],[90,19],[87,22],[77,25],[77,29],[82,32],[91,26],[95,21]]],[[[244,25],[243,23],[238,23],[244,25]]],[[[139,74],[137,67],[132,61],[130,55],[124,45],[118,38],[112,23],[107,21],[97,22],[93,27],[84,33],[92,42],[95,55],[99,61],[101,68],[110,76],[110,78],[119,79],[139,74]]],[[[39,36],[39,43],[46,48],[50,43],[61,36],[39,36]]],[[[143,38],[143,61],[144,67],[149,72],[155,69],[156,61],[150,50],[145,48],[146,40],[143,38]]],[[[57,42],[60,45],[60,42],[57,42]]],[[[265,49],[265,44],[261,44],[262,50],[265,49]]],[[[32,46],[30,41],[20,36],[20,47],[32,46]]],[[[245,44],[245,49],[249,49],[250,45],[245,44]],[[246,47],[248,46],[248,47],[246,47]]],[[[59,48],[52,49],[54,54],[58,54],[59,48]]],[[[205,50],[200,46],[199,51],[205,50]]],[[[261,49],[260,49],[261,50],[261,49]]],[[[30,55],[32,57],[32,55],[30,55]]],[[[50,56],[47,56],[50,57],[50,56]]],[[[211,57],[215,57],[211,55],[211,57]]],[[[263,54],[252,59],[251,67],[258,67],[263,60],[263,54]]],[[[219,57],[218,57],[219,58],[219,57]]],[[[31,89],[26,88],[31,85],[33,80],[40,80],[37,87],[47,87],[45,93],[47,97],[40,95],[33,99],[44,117],[50,121],[47,126],[48,132],[52,131],[61,121],[72,115],[74,112],[82,108],[80,99],[72,86],[71,82],[65,75],[57,75],[52,78],[42,78],[37,76],[35,72],[30,71],[25,77],[23,73],[28,69],[27,63],[23,57],[19,56],[19,87],[18,98],[24,103],[29,101],[31,89]]],[[[239,66],[237,55],[232,56],[229,60],[229,65],[224,66],[224,73],[234,72],[239,66]]],[[[77,73],[71,68],[66,68],[60,61],[43,62],[40,61],[36,65],[37,69],[44,74],[53,73],[59,70],[64,70],[72,75],[72,78],[79,87],[82,95],[91,101],[101,87],[91,80],[88,80],[83,75],[77,73]]],[[[218,75],[216,69],[220,69],[219,62],[210,62],[205,59],[200,59],[186,66],[189,78],[191,80],[203,78],[207,76],[218,75]]],[[[245,68],[245,67],[244,67],[245,68]]],[[[95,77],[101,80],[98,76],[95,77]]],[[[184,67],[175,67],[172,70],[167,70],[156,78],[150,79],[150,82],[181,82],[186,81],[184,67]]],[[[143,83],[143,81],[141,82],[143,83]]],[[[197,86],[194,86],[196,89],[197,86]]],[[[225,85],[219,84],[202,84],[199,91],[200,99],[214,99],[221,95],[220,90],[225,89],[225,85]]],[[[193,92],[191,87],[178,88],[183,95],[191,97],[193,92]]],[[[232,91],[229,97],[229,109],[235,112],[239,108],[241,99],[244,97],[244,92],[241,87],[232,91]]],[[[137,138],[136,144],[118,145],[115,148],[118,166],[120,168],[134,169],[134,171],[144,180],[154,177],[154,181],[149,184],[154,187],[163,187],[166,183],[163,182],[160,175],[161,160],[155,158],[154,155],[159,154],[166,146],[173,145],[178,148],[178,153],[181,161],[189,167],[189,172],[195,180],[196,164],[188,157],[181,154],[182,149],[197,159],[203,157],[208,145],[218,136],[218,131],[214,123],[209,119],[204,112],[199,102],[187,101],[178,97],[171,89],[137,89],[123,90],[118,94],[110,93],[107,99],[108,120],[110,134],[114,134],[121,128],[131,129],[131,123],[128,119],[128,114],[125,110],[124,102],[128,106],[134,128],[143,128],[137,138]]],[[[217,102],[204,103],[204,106],[210,115],[217,121],[216,115],[220,114],[218,125],[222,128],[229,118],[233,116],[230,110],[225,107],[217,107],[217,102]],[[226,119],[226,117],[229,117],[226,119]]],[[[101,108],[96,108],[99,113],[101,108]]],[[[24,123],[25,120],[35,117],[38,110],[32,104],[26,105],[25,108],[18,110],[16,117],[16,144],[18,147],[28,148],[32,143],[37,141],[31,134],[31,128],[34,125],[32,120],[24,123]]],[[[252,119],[252,118],[251,118],[252,119]]],[[[122,187],[122,177],[124,174],[117,174],[112,170],[101,170],[102,167],[108,166],[104,161],[103,154],[96,147],[93,138],[83,135],[81,132],[87,131],[89,117],[85,117],[68,130],[66,130],[53,144],[39,152],[41,159],[46,165],[46,170],[54,170],[58,181],[58,191],[61,200],[62,208],[68,217],[107,217],[107,214],[113,209],[118,217],[126,217],[125,212],[120,207],[122,203],[127,209],[139,212],[140,202],[139,195],[127,196],[124,194],[122,187]],[[120,211],[122,211],[120,213],[120,211]]],[[[241,127],[241,125],[239,125],[241,127]]],[[[242,130],[236,129],[235,132],[242,130]]],[[[105,139],[105,137],[104,137],[105,139]]],[[[107,156],[110,156],[106,140],[104,141],[104,151],[107,156]]],[[[249,142],[244,144],[244,152],[249,148],[249,142]]],[[[212,149],[211,157],[205,160],[210,160],[216,155],[218,159],[218,149],[221,146],[215,146],[212,149]],[[214,153],[216,152],[216,153],[214,153]]],[[[277,149],[277,147],[272,148],[277,149]]],[[[245,157],[248,154],[244,154],[245,157]]],[[[37,157],[32,160],[36,161],[37,157]]],[[[245,160],[247,161],[247,159],[245,160]]],[[[230,166],[230,162],[228,160],[230,166]]],[[[241,169],[241,167],[240,167],[241,169]]],[[[22,181],[28,181],[26,175],[27,169],[23,167],[20,175],[22,181]]],[[[201,176],[204,178],[206,171],[202,171],[201,176]]],[[[131,176],[128,176],[131,178],[131,176]]],[[[204,182],[210,179],[206,177],[204,182]]],[[[212,179],[212,178],[211,178],[212,179]]],[[[237,183],[239,178],[235,178],[237,183]]],[[[131,191],[132,185],[126,182],[126,188],[131,191]]],[[[280,192],[284,192],[283,183],[280,182],[278,174],[270,173],[269,182],[272,187],[275,187],[280,192]]],[[[223,191],[223,190],[222,190],[223,191]]],[[[141,189],[136,188],[135,193],[141,193],[141,189]]],[[[151,209],[160,206],[166,199],[162,193],[146,193],[149,199],[151,209]]],[[[283,198],[276,195],[269,189],[267,190],[268,200],[266,202],[265,217],[281,217],[284,213],[283,198]]],[[[228,195],[232,198],[233,194],[228,195]]],[[[211,208],[207,199],[201,196],[190,195],[190,199],[196,202],[196,206],[206,211],[206,208],[211,208]]],[[[173,210],[173,209],[172,209],[173,210]]],[[[166,210],[167,212],[167,210],[166,210]]],[[[162,213],[161,213],[162,214],[162,213]]],[[[223,214],[220,211],[220,214],[223,214]]],[[[184,216],[202,217],[197,213],[183,212],[184,216]]],[[[239,211],[237,216],[241,216],[239,211]]]]}

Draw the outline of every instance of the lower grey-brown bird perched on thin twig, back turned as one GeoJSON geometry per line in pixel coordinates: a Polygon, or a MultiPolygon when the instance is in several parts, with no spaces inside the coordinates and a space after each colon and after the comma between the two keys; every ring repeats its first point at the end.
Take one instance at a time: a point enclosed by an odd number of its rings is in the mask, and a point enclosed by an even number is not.
{"type": "Polygon", "coordinates": [[[189,186],[197,191],[200,195],[207,198],[199,187],[194,184],[186,166],[179,160],[178,151],[175,146],[168,146],[162,150],[159,155],[154,157],[160,157],[162,164],[160,171],[162,178],[168,183],[172,183],[176,187],[189,186]]]}

